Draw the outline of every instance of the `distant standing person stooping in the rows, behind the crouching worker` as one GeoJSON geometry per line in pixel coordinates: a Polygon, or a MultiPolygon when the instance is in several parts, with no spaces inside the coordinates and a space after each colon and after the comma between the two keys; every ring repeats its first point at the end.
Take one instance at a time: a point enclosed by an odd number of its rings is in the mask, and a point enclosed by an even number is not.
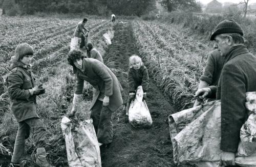
{"type": "Polygon", "coordinates": [[[84,18],[82,21],[80,21],[77,24],[73,34],[74,39],[77,41],[77,43],[78,43],[78,39],[81,38],[80,48],[83,48],[83,46],[86,46],[86,43],[84,40],[88,38],[88,33],[90,32],[88,29],[86,29],[86,27],[84,27],[84,25],[87,23],[87,20],[88,20],[87,18],[84,18]]]}

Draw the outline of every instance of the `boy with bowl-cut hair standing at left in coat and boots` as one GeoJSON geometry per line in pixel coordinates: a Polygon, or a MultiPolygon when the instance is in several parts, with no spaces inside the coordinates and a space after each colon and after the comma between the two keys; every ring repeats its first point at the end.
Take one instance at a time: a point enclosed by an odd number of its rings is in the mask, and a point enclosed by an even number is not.
{"type": "Polygon", "coordinates": [[[18,122],[18,132],[14,144],[13,156],[10,166],[19,166],[24,158],[25,140],[32,130],[34,144],[36,146],[36,161],[39,166],[50,167],[46,160],[46,129],[44,123],[37,115],[36,96],[44,94],[42,85],[36,85],[31,73],[30,61],[34,51],[27,44],[19,44],[15,48],[15,55],[7,77],[7,88],[10,99],[10,107],[18,122]]]}

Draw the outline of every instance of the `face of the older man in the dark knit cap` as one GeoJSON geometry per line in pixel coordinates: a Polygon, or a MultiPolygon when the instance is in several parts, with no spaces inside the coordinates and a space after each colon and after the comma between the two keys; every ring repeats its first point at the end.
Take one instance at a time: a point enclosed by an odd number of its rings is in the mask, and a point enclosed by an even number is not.
{"type": "Polygon", "coordinates": [[[220,35],[217,35],[215,37],[214,48],[217,48],[220,51],[221,56],[227,55],[231,48],[231,46],[228,44],[228,38],[223,38],[220,35]]]}

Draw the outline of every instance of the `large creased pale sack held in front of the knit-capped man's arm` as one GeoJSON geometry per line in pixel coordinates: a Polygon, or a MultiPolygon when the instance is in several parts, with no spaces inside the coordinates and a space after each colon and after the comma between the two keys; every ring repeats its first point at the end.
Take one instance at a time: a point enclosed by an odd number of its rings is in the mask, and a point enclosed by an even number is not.
{"type": "Polygon", "coordinates": [[[221,102],[216,100],[169,116],[175,162],[219,160],[220,112],[221,102]]]}

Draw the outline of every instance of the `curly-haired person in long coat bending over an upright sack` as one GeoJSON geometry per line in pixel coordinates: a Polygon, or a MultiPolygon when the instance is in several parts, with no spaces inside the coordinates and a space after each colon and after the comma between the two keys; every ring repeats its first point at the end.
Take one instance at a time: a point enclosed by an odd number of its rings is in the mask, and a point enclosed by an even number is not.
{"type": "Polygon", "coordinates": [[[108,67],[96,59],[84,58],[80,50],[71,50],[68,62],[73,66],[76,74],[73,107],[68,116],[75,115],[78,101],[82,98],[83,83],[86,80],[94,88],[90,109],[98,142],[108,145],[113,140],[112,114],[123,104],[122,87],[108,67]]]}

